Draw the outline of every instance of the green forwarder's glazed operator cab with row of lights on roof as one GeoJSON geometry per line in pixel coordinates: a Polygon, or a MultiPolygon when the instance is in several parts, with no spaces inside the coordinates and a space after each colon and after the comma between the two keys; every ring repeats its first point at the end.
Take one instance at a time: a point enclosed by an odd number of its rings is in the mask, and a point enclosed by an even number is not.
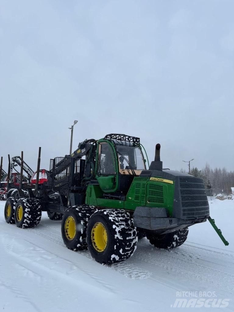
{"type": "Polygon", "coordinates": [[[135,176],[145,170],[139,138],[109,134],[98,141],[96,179],[104,193],[126,194],[135,176]]]}

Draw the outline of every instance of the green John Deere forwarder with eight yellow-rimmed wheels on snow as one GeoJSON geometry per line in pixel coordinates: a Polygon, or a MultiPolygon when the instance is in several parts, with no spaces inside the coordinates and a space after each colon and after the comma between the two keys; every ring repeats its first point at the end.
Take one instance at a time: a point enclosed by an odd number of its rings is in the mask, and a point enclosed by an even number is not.
{"type": "Polygon", "coordinates": [[[137,137],[108,134],[85,140],[73,154],[51,159],[47,183],[38,183],[37,170],[30,198],[7,199],[6,222],[28,228],[38,225],[42,211],[62,214],[65,245],[75,251],[88,248],[102,264],[132,256],[138,236],[146,235],[158,248],[178,247],[188,227],[207,219],[228,245],[210,218],[203,180],[163,169],[160,144],[149,169],[146,159],[137,137]]]}

